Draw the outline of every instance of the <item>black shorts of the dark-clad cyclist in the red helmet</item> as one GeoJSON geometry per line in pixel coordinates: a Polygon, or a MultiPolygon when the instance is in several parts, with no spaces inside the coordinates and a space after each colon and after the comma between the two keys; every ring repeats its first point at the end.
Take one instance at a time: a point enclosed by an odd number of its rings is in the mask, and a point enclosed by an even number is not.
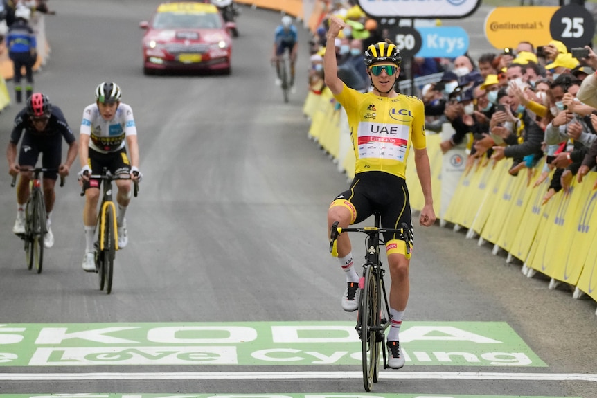
{"type": "MultiPolygon", "coordinates": [[[[23,134],[19,151],[19,165],[35,167],[39,153],[42,153],[42,168],[58,170],[62,161],[62,135],[34,135],[29,131],[23,134]]],[[[44,179],[57,179],[57,172],[44,172],[44,179]]]]}

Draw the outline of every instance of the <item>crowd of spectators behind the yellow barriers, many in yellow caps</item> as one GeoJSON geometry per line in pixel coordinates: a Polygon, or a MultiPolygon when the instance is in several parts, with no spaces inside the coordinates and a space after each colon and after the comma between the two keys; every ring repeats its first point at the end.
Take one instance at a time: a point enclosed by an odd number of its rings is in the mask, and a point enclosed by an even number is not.
{"type": "MultiPolygon", "coordinates": [[[[364,48],[385,39],[387,32],[350,0],[335,1],[312,38],[310,89],[321,93],[324,87],[322,57],[332,15],[347,24],[335,42],[339,77],[348,87],[368,91],[371,80],[362,62],[364,48]]],[[[582,182],[597,165],[597,55],[590,46],[584,48],[588,54],[576,58],[557,40],[539,47],[522,41],[516,48],[488,51],[476,60],[468,55],[416,57],[413,77],[441,76],[417,87],[425,104],[427,130],[440,132],[445,123],[452,125],[454,134],[440,144],[441,150],[445,153],[470,141],[469,167],[477,161],[508,158],[510,174],[526,169],[530,178],[531,170],[545,158],[534,186],[551,178],[546,203],[556,192],[568,190],[575,176],[582,182]]]]}

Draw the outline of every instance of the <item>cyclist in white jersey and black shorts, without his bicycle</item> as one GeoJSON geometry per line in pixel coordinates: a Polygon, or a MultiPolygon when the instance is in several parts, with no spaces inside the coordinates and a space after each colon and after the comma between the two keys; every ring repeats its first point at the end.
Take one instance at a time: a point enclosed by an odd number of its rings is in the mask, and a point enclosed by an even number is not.
{"type": "MultiPolygon", "coordinates": [[[[79,179],[85,190],[83,224],[86,242],[82,266],[89,272],[96,270],[93,243],[100,198],[100,181],[89,179],[89,175],[100,174],[107,168],[114,175],[131,174],[133,181],[141,181],[143,177],[139,172],[139,144],[133,111],[120,99],[121,89],[116,83],[101,83],[96,88],[96,103],[85,107],[81,122],[79,159],[82,169],[79,179]]],[[[128,243],[125,212],[132,196],[131,180],[114,182],[118,187],[118,247],[124,248],[128,243]]]]}

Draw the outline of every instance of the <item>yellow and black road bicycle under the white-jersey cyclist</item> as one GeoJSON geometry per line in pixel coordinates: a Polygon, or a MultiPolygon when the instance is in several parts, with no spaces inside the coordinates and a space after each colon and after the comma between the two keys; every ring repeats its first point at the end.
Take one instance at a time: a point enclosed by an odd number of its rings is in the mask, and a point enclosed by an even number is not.
{"type": "MultiPolygon", "coordinates": [[[[98,239],[94,246],[96,248],[96,273],[99,277],[100,290],[106,288],[106,293],[112,293],[112,279],[114,277],[114,259],[118,250],[118,227],[116,224],[116,203],[112,200],[112,181],[130,180],[130,174],[112,175],[107,168],[103,168],[102,174],[87,174],[89,179],[100,180],[100,189],[103,192],[102,202],[98,213],[96,230],[98,239]]],[[[134,196],[139,192],[139,184],[134,181],[134,196]]],[[[84,190],[81,196],[85,195],[84,190]]]]}

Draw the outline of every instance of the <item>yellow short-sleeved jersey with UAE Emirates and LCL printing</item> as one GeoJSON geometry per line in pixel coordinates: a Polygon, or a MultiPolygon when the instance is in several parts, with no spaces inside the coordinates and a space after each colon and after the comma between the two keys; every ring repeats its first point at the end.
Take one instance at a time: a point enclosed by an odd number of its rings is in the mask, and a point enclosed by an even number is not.
{"type": "Polygon", "coordinates": [[[361,93],[344,84],[336,100],[346,109],[355,173],[381,171],[406,179],[411,145],[424,149],[425,107],[419,98],[361,93]]]}

